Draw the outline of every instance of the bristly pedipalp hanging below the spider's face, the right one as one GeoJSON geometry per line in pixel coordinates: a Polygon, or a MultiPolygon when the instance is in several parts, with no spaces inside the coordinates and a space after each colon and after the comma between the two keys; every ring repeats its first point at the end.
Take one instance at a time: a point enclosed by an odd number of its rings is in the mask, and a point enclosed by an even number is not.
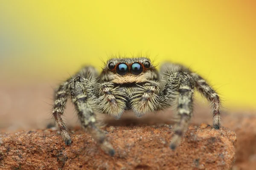
{"type": "Polygon", "coordinates": [[[136,88],[136,95],[131,97],[132,110],[137,117],[143,116],[145,113],[153,112],[157,108],[159,92],[159,83],[150,81],[143,86],[136,88]]]}

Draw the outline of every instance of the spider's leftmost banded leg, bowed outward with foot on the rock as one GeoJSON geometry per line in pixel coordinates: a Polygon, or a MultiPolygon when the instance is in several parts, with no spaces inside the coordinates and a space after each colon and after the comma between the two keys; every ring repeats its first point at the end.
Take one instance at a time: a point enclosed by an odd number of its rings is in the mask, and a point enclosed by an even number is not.
{"type": "MultiPolygon", "coordinates": [[[[91,66],[83,67],[79,72],[77,72],[73,77],[78,75],[83,75],[84,77],[95,78],[97,76],[97,71],[91,66]]],[[[67,79],[65,82],[61,83],[58,90],[55,92],[55,103],[52,109],[52,116],[55,119],[56,125],[60,130],[61,137],[64,139],[65,144],[71,144],[70,136],[67,132],[67,127],[64,120],[62,119],[64,109],[66,108],[68,89],[67,85],[70,83],[72,78],[67,79]]]]}

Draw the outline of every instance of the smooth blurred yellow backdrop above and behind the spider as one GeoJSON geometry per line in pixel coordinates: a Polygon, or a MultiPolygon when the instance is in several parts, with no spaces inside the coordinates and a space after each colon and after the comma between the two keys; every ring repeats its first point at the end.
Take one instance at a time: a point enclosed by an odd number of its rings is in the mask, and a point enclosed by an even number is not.
{"type": "Polygon", "coordinates": [[[1,85],[51,84],[142,54],[197,71],[225,107],[256,108],[255,9],[253,0],[0,0],[1,85]]]}

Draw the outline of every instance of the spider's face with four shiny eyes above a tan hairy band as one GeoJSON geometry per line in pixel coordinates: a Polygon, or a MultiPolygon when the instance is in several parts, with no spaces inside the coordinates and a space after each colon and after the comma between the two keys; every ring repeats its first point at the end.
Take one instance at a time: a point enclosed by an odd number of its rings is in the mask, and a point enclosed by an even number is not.
{"type": "Polygon", "coordinates": [[[105,76],[118,84],[140,83],[157,78],[155,66],[145,57],[110,59],[104,70],[105,76]]]}

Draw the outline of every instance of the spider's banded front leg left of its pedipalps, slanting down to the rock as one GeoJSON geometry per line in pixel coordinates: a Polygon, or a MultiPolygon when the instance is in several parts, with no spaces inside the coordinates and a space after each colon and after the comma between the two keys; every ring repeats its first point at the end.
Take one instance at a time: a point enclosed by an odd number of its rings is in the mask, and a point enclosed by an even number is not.
{"type": "Polygon", "coordinates": [[[92,104],[88,100],[88,96],[85,93],[82,78],[77,77],[76,79],[73,79],[73,81],[68,85],[68,90],[70,92],[72,102],[76,107],[81,125],[84,127],[84,129],[89,131],[89,133],[93,136],[93,139],[96,140],[97,144],[99,144],[105,153],[113,156],[115,153],[113,147],[111,144],[109,144],[105,134],[95,125],[95,114],[93,112],[93,108],[91,107],[92,104]]]}

